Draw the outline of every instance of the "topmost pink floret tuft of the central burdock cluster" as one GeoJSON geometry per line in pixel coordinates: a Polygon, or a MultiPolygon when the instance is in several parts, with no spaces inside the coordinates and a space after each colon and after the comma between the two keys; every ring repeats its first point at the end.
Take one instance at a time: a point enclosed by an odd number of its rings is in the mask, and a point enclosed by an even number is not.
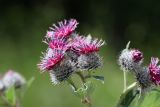
{"type": "Polygon", "coordinates": [[[50,27],[51,31],[47,32],[47,38],[67,38],[71,35],[71,33],[76,29],[78,22],[75,19],[64,20],[58,23],[57,25],[53,25],[50,27]]]}

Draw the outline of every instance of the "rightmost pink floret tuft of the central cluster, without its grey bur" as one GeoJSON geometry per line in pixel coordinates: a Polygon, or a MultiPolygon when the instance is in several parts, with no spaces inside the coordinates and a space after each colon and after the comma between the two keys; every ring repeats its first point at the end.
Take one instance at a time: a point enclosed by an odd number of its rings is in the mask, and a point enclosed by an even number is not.
{"type": "Polygon", "coordinates": [[[103,40],[98,41],[98,39],[92,39],[91,35],[87,37],[76,36],[72,48],[77,51],[78,54],[87,54],[99,51],[99,48],[104,44],[105,42],[103,40]]]}

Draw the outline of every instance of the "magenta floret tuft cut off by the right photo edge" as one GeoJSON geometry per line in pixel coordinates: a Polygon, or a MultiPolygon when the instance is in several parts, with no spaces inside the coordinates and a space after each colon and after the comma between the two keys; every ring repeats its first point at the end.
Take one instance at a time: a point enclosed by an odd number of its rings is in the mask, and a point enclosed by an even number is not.
{"type": "Polygon", "coordinates": [[[155,85],[160,85],[160,66],[157,65],[158,62],[158,58],[152,57],[149,65],[150,78],[155,85]]]}

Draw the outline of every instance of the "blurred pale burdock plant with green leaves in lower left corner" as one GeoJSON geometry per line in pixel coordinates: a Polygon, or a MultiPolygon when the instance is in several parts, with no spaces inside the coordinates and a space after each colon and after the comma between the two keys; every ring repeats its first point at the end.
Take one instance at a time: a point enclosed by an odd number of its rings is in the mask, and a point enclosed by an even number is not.
{"type": "Polygon", "coordinates": [[[20,97],[17,95],[17,90],[21,89],[20,95],[28,88],[33,78],[29,81],[13,70],[7,71],[5,74],[0,74],[0,107],[20,107],[20,97]]]}

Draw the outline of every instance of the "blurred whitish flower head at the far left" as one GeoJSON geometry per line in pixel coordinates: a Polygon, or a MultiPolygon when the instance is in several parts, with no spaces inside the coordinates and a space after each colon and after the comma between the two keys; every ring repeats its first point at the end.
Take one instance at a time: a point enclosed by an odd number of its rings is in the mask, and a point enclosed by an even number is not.
{"type": "Polygon", "coordinates": [[[20,75],[18,72],[14,72],[12,70],[9,70],[3,76],[2,81],[3,81],[4,86],[6,88],[10,88],[12,86],[19,88],[26,83],[26,80],[24,79],[24,77],[22,77],[22,75],[20,75]]]}

